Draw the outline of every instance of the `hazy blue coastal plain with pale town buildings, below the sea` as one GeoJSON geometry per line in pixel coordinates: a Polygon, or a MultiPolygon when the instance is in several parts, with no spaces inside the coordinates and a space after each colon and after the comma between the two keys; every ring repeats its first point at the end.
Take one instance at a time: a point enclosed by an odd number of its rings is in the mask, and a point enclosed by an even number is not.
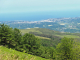
{"type": "Polygon", "coordinates": [[[41,21],[0,21],[0,23],[18,29],[47,28],[60,32],[80,33],[80,17],[51,18],[41,21]]]}

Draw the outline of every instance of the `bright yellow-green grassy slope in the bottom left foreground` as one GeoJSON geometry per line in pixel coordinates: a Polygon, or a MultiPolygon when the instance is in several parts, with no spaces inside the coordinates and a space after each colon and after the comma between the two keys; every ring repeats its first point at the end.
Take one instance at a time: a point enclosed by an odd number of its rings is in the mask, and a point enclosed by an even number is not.
{"type": "Polygon", "coordinates": [[[0,60],[49,60],[0,46],[0,60]]]}

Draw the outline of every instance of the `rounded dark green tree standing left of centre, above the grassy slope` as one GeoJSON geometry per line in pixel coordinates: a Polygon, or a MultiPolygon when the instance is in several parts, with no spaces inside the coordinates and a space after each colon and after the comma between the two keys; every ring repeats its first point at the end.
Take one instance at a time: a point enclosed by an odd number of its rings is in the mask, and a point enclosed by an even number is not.
{"type": "Polygon", "coordinates": [[[27,49],[27,52],[36,53],[36,50],[39,49],[40,44],[39,44],[39,39],[36,38],[34,35],[32,34],[28,34],[26,33],[25,35],[23,35],[23,48],[27,49]]]}

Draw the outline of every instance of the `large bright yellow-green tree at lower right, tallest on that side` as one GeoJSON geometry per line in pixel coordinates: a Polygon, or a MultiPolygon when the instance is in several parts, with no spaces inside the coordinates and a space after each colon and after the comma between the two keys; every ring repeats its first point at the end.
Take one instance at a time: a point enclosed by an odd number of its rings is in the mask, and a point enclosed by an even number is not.
{"type": "Polygon", "coordinates": [[[64,37],[57,46],[59,60],[73,60],[73,39],[64,37]]]}

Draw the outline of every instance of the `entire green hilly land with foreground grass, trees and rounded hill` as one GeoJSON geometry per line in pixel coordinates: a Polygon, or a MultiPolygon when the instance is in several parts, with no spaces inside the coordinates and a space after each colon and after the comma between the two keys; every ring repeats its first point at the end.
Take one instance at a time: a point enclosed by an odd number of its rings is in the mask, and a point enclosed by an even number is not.
{"type": "Polygon", "coordinates": [[[20,31],[2,24],[0,25],[0,59],[78,60],[80,59],[80,43],[76,39],[80,39],[79,36],[80,34],[77,33],[61,33],[42,28],[20,31]]]}

